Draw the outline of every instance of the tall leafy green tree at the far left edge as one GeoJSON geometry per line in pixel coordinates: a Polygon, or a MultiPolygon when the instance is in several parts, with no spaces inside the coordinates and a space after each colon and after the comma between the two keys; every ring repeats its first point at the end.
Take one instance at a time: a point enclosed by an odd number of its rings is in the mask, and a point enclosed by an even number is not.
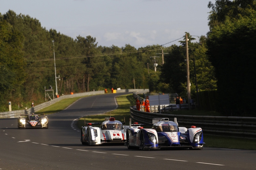
{"type": "Polygon", "coordinates": [[[0,22],[0,37],[0,105],[3,105],[4,99],[22,100],[20,94],[26,73],[23,35],[3,20],[0,22]]]}

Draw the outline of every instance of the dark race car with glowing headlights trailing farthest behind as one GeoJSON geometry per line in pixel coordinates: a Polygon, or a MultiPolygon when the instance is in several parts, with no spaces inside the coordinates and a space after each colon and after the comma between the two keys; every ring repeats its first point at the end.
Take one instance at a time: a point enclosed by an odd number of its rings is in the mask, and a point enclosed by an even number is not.
{"type": "MultiPolygon", "coordinates": [[[[42,114],[44,116],[44,114],[42,114]]],[[[20,115],[18,117],[18,129],[26,128],[44,128],[48,129],[48,118],[47,116],[39,117],[41,115],[29,114],[29,115],[20,115]],[[27,117],[22,117],[27,116],[27,117]]]]}

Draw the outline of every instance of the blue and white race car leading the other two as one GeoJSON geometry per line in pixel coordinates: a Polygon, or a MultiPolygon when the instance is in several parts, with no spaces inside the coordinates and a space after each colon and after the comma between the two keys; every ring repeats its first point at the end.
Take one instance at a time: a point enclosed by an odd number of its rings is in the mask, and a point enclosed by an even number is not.
{"type": "MultiPolygon", "coordinates": [[[[140,124],[142,125],[142,124],[140,124]]],[[[203,132],[201,128],[191,126],[178,127],[176,118],[162,118],[153,124],[152,129],[131,124],[126,130],[128,149],[138,147],[141,150],[155,150],[163,147],[203,149],[203,132]]]]}

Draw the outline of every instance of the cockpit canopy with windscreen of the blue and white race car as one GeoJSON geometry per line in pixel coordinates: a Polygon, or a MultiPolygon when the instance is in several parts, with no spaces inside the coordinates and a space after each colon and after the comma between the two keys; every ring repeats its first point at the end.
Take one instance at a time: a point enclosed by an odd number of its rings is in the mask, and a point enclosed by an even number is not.
{"type": "Polygon", "coordinates": [[[157,132],[178,132],[178,126],[174,122],[157,122],[152,126],[157,132]]]}

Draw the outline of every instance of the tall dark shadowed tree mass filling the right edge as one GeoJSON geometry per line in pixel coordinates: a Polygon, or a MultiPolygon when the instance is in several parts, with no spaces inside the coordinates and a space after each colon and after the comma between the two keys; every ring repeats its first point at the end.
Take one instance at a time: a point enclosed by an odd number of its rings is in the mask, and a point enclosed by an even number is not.
{"type": "Polygon", "coordinates": [[[256,1],[209,2],[208,55],[216,68],[219,111],[254,116],[256,90],[256,1]]]}

